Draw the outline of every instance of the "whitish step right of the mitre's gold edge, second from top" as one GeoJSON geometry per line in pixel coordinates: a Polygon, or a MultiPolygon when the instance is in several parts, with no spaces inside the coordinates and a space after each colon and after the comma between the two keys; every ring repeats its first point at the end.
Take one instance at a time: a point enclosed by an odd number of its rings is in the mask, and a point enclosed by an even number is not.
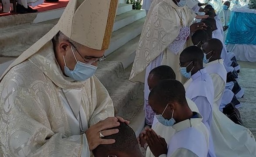
{"type": "Polygon", "coordinates": [[[130,10],[124,14],[120,14],[116,16],[113,31],[117,31],[120,28],[125,27],[145,16],[146,12],[144,10],[130,10]]]}

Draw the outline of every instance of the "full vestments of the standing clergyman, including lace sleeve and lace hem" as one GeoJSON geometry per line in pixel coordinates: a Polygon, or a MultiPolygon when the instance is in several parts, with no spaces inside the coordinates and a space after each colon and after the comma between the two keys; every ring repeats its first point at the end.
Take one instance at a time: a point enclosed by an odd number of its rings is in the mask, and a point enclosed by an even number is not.
{"type": "Polygon", "coordinates": [[[154,112],[148,105],[147,77],[153,68],[168,65],[176,73],[176,79],[181,81],[179,53],[190,34],[193,14],[188,7],[177,7],[173,1],[155,0],[150,7],[130,75],[131,81],[144,83],[144,112],[148,125],[153,123],[154,112]]]}

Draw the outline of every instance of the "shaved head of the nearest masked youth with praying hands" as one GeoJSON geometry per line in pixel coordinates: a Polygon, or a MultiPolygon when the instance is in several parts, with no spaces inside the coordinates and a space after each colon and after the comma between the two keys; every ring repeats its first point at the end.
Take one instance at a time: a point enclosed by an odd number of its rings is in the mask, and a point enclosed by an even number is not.
{"type": "Polygon", "coordinates": [[[174,118],[177,123],[192,115],[185,97],[184,86],[174,79],[163,80],[151,90],[149,105],[156,115],[162,114],[164,119],[174,118]]]}

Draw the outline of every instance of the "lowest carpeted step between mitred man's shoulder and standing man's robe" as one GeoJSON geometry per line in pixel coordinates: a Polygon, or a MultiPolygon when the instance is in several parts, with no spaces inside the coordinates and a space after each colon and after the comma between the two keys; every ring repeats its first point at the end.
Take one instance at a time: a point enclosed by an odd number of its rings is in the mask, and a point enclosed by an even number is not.
{"type": "Polygon", "coordinates": [[[145,123],[144,85],[128,81],[130,70],[131,66],[123,70],[123,65],[120,62],[104,61],[99,64],[96,76],[109,91],[113,100],[115,115],[130,120],[130,126],[138,136],[145,123]]]}

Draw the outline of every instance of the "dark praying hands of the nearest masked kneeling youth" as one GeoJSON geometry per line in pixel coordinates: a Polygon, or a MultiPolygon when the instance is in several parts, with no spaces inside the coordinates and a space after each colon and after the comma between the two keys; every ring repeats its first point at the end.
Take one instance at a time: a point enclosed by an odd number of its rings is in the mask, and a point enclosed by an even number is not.
{"type": "Polygon", "coordinates": [[[167,143],[163,137],[157,135],[153,129],[146,128],[145,131],[140,133],[138,141],[141,147],[144,147],[145,143],[150,148],[155,157],[159,157],[161,154],[167,154],[167,143]]]}

